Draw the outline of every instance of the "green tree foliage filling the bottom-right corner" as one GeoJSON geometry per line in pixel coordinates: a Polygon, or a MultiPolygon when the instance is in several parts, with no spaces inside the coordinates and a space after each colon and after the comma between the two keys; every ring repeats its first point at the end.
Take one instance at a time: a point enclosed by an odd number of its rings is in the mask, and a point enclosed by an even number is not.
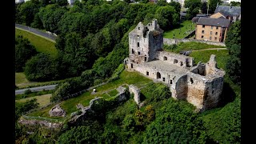
{"type": "MultiPolygon", "coordinates": [[[[213,111],[213,110],[212,110],[213,111]]],[[[241,143],[241,99],[236,98],[216,112],[202,114],[206,134],[219,143],[241,143]]]]}

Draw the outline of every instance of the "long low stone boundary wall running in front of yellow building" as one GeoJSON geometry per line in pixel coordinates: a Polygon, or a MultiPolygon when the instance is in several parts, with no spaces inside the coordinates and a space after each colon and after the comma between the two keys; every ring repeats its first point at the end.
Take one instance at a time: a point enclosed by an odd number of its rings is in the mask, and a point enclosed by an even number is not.
{"type": "Polygon", "coordinates": [[[214,45],[214,46],[226,46],[225,43],[223,42],[210,42],[210,41],[188,39],[188,38],[182,38],[182,39],[163,38],[163,44],[166,44],[166,45],[174,45],[174,44],[177,45],[179,42],[201,42],[201,43],[206,43],[208,45],[214,45]]]}

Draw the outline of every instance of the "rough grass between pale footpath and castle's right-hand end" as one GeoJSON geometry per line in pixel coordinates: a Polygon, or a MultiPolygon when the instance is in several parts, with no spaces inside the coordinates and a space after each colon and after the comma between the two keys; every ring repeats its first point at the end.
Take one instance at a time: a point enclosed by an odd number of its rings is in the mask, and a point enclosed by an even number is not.
{"type": "Polygon", "coordinates": [[[225,70],[226,61],[229,55],[228,50],[202,50],[202,51],[193,51],[190,54],[190,57],[194,58],[194,62],[208,62],[210,60],[210,54],[216,55],[217,66],[225,70]]]}

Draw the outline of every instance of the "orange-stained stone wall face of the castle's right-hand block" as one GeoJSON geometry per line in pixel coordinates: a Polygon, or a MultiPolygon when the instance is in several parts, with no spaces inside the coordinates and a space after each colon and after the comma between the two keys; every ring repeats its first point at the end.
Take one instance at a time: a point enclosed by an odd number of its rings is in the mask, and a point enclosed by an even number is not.
{"type": "Polygon", "coordinates": [[[194,73],[187,74],[187,102],[192,103],[199,110],[202,109],[206,89],[204,76],[194,73]]]}

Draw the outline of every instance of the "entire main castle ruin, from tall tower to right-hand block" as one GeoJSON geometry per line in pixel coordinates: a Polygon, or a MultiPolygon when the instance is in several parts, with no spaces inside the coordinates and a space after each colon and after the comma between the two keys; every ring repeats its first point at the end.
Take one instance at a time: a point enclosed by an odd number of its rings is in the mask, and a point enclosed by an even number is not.
{"type": "Polygon", "coordinates": [[[146,26],[138,23],[129,33],[128,70],[136,70],[148,78],[170,87],[173,98],[186,99],[198,110],[218,105],[225,71],[218,69],[215,55],[206,64],[194,64],[194,58],[162,50],[163,30],[157,20],[146,26]]]}

